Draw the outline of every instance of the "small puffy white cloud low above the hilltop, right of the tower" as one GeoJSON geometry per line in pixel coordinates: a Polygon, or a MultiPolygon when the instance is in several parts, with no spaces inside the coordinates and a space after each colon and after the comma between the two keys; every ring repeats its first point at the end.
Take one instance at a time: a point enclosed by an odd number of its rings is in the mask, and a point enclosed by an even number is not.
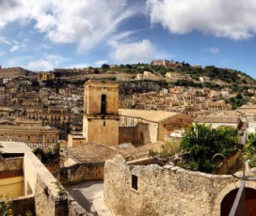
{"type": "Polygon", "coordinates": [[[115,51],[111,57],[121,63],[149,62],[154,58],[154,48],[149,39],[132,43],[113,43],[115,51]]]}

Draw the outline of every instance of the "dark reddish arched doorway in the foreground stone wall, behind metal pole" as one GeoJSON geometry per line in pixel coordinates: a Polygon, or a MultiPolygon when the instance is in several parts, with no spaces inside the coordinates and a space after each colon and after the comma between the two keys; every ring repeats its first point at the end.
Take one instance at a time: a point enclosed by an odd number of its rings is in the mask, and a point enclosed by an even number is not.
{"type": "MultiPolygon", "coordinates": [[[[228,193],[221,202],[221,216],[229,216],[232,209],[232,204],[234,202],[235,196],[238,192],[238,189],[232,190],[228,193]]],[[[256,190],[245,188],[245,210],[246,216],[255,216],[256,215],[256,190]]]]}

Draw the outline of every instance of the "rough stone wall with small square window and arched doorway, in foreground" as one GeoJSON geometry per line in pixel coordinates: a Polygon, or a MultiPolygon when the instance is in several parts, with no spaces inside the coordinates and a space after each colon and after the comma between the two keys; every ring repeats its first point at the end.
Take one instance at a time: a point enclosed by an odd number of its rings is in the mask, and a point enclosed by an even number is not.
{"type": "MultiPolygon", "coordinates": [[[[122,216],[220,215],[222,199],[239,186],[232,176],[157,164],[127,165],[120,155],[106,161],[104,168],[105,205],[122,216]],[[132,183],[132,176],[137,182],[132,183]]],[[[247,187],[256,185],[248,182],[247,187]]]]}

